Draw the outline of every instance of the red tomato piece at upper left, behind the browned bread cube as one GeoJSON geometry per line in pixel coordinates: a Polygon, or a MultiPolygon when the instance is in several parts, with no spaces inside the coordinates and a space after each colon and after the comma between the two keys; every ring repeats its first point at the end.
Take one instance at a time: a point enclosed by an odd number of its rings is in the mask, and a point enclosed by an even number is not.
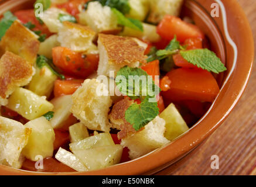
{"type": "Polygon", "coordinates": [[[36,19],[34,9],[22,10],[14,12],[14,15],[21,20],[22,23],[31,22],[36,27],[32,30],[40,30],[42,34],[46,34],[47,37],[52,35],[45,24],[40,24],[39,20],[36,19]]]}

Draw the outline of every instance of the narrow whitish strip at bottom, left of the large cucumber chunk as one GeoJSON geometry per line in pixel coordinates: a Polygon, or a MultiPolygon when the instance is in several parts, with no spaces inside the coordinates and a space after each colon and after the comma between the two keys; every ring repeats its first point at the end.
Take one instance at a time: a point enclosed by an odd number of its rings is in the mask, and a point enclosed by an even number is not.
{"type": "Polygon", "coordinates": [[[76,171],[88,171],[88,168],[74,154],[59,148],[55,158],[63,164],[73,168],[76,171]]]}

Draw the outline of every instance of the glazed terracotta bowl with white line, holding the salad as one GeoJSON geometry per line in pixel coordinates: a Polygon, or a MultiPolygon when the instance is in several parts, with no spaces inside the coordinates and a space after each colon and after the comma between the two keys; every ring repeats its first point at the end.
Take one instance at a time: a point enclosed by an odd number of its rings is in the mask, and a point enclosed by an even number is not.
{"type": "MultiPolygon", "coordinates": [[[[32,8],[32,0],[0,2],[5,11],[32,8]]],[[[172,143],[133,161],[90,172],[59,173],[63,175],[137,175],[154,174],[189,154],[224,122],[240,99],[250,77],[254,44],[250,25],[235,0],[185,0],[182,16],[189,16],[206,33],[211,49],[226,64],[227,71],[217,75],[221,91],[209,111],[189,131],[172,143]],[[214,9],[215,8],[215,9],[214,9]],[[217,9],[216,9],[217,8],[217,9]],[[216,15],[218,14],[219,15],[216,15]]],[[[0,166],[4,175],[49,175],[0,166]]],[[[58,174],[58,173],[52,173],[58,174]]]]}

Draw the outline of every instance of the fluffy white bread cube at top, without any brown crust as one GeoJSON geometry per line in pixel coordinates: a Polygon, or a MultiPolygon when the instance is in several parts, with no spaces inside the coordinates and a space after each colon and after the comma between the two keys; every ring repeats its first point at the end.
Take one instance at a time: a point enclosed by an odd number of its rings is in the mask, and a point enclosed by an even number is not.
{"type": "Polygon", "coordinates": [[[111,8],[97,1],[90,2],[87,10],[80,13],[79,23],[88,25],[97,33],[119,29],[117,17],[111,8]]]}

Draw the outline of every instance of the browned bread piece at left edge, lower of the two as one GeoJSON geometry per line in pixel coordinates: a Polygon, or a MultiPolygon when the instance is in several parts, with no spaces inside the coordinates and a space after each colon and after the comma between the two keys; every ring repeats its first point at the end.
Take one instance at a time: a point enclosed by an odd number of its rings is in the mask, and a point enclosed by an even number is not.
{"type": "Polygon", "coordinates": [[[7,98],[19,86],[29,84],[35,70],[32,65],[9,51],[0,59],[0,105],[7,105],[7,98]]]}

